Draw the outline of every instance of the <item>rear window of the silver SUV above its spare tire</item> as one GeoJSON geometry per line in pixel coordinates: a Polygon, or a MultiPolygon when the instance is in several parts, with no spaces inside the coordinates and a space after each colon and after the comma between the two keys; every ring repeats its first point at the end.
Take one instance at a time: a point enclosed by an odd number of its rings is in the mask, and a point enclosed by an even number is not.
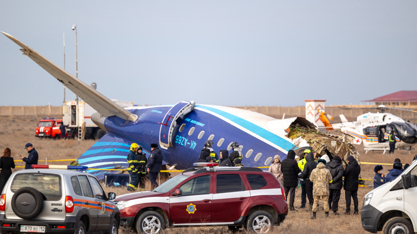
{"type": "Polygon", "coordinates": [[[44,200],[58,201],[62,197],[61,177],[57,174],[21,173],[13,178],[11,190],[18,191],[23,187],[37,189],[44,200]]]}

